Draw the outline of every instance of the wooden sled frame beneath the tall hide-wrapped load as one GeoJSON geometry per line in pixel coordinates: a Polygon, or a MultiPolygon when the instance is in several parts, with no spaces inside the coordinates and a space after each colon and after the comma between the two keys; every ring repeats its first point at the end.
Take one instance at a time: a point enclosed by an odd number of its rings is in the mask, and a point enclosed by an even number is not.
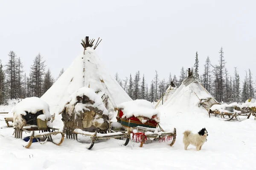
{"type": "Polygon", "coordinates": [[[113,130],[111,130],[111,132],[107,132],[107,130],[104,131],[95,131],[95,132],[87,132],[87,131],[83,131],[81,129],[75,129],[75,130],[68,130],[65,129],[65,133],[66,133],[66,138],[67,139],[75,139],[76,141],[78,141],[77,135],[84,135],[84,136],[90,136],[90,144],[88,144],[86,146],[87,149],[91,149],[94,146],[95,141],[98,140],[102,140],[102,139],[116,139],[116,138],[122,138],[125,137],[126,141],[125,144],[123,145],[127,145],[129,143],[130,140],[130,132],[127,133],[122,133],[122,132],[115,132],[113,130]]]}

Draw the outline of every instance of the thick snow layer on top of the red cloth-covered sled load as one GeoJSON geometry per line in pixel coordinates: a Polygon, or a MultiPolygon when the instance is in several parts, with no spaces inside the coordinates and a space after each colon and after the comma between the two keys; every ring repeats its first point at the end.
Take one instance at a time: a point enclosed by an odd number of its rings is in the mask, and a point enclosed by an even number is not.
{"type": "Polygon", "coordinates": [[[143,116],[151,119],[152,116],[154,115],[156,115],[158,119],[160,118],[160,111],[158,109],[154,109],[154,105],[151,102],[148,102],[144,99],[123,102],[119,104],[117,107],[119,109],[122,109],[122,112],[124,113],[122,118],[130,118],[132,116],[143,116]]]}

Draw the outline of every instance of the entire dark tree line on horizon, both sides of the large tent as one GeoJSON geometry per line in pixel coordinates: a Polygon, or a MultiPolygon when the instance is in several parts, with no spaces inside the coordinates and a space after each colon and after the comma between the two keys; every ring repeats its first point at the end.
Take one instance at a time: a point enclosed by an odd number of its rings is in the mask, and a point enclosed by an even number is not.
{"type": "MultiPolygon", "coordinates": [[[[250,68],[241,81],[237,67],[234,68],[233,74],[227,71],[222,47],[218,53],[219,60],[216,64],[211,63],[209,56],[206,57],[204,71],[200,75],[198,52],[196,52],[195,63],[191,67],[194,77],[218,102],[245,102],[248,98],[254,97],[256,84],[250,68]]],[[[32,62],[29,75],[26,75],[20,57],[17,57],[14,51],[10,51],[8,56],[6,65],[3,65],[0,59],[0,105],[5,104],[7,99],[41,97],[64,73],[62,68],[58,77],[54,79],[50,69],[46,69],[44,57],[39,53],[32,62]]],[[[144,74],[141,76],[140,71],[137,71],[134,77],[130,74],[125,79],[121,79],[118,73],[114,75],[116,81],[132,99],[145,99],[150,102],[157,102],[171,82],[178,88],[187,76],[188,71],[183,66],[179,77],[169,73],[167,79],[159,79],[158,72],[155,71],[154,79],[149,83],[145,81],[144,74]]]]}

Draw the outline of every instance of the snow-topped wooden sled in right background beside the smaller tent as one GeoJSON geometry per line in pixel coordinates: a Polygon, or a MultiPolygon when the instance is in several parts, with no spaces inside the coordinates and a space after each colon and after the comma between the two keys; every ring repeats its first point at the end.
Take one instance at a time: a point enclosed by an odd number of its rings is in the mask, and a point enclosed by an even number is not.
{"type": "Polygon", "coordinates": [[[229,105],[221,105],[219,103],[215,103],[211,106],[208,113],[209,117],[210,114],[214,114],[216,117],[221,116],[221,118],[223,118],[224,121],[230,121],[233,118],[235,118],[238,121],[241,121],[239,116],[245,116],[245,119],[249,119],[251,115],[250,112],[244,112],[243,110],[241,110],[241,105],[237,103],[231,103],[229,105]]]}

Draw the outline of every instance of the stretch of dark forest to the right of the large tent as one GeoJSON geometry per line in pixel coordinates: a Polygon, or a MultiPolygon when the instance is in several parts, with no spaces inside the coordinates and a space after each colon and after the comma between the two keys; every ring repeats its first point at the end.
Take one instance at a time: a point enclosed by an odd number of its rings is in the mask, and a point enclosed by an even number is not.
{"type": "MultiPolygon", "coordinates": [[[[195,53],[195,63],[191,67],[191,71],[196,79],[201,82],[201,85],[218,101],[225,103],[245,102],[248,98],[253,98],[256,95],[256,84],[253,81],[253,74],[250,68],[246,72],[243,81],[239,76],[237,67],[234,68],[233,74],[227,71],[226,61],[224,59],[224,51],[221,47],[218,63],[212,64],[209,56],[206,57],[204,63],[204,71],[199,74],[198,52],[195,53]]],[[[157,102],[169,88],[173,82],[178,88],[183,80],[188,77],[188,70],[183,66],[180,69],[180,75],[177,77],[169,73],[167,79],[159,79],[158,72],[155,71],[154,79],[148,84],[145,82],[144,74],[142,80],[140,71],[137,71],[134,78],[131,76],[121,79],[118,73],[115,74],[115,79],[133,99],[146,99],[150,102],[157,102]],[[167,81],[166,81],[167,80],[167,81]]]]}

